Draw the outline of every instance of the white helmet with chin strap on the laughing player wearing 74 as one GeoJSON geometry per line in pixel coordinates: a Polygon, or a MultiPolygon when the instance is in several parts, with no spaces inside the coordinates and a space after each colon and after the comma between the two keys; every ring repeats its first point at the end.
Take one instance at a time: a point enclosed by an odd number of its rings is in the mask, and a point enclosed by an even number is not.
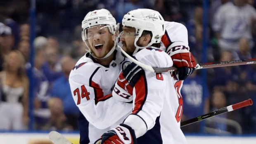
{"type": "MultiPolygon", "coordinates": [[[[109,32],[111,34],[113,34],[115,36],[115,40],[114,40],[114,46],[113,48],[109,51],[109,53],[100,58],[100,59],[104,59],[106,57],[109,57],[110,54],[112,54],[115,50],[116,47],[116,19],[112,16],[112,14],[107,10],[107,9],[97,9],[94,10],[92,12],[88,12],[88,14],[86,14],[85,18],[82,21],[82,38],[83,41],[85,42],[85,44],[87,45],[87,47],[89,48],[88,52],[93,56],[94,54],[92,54],[89,45],[86,43],[86,40],[88,39],[87,36],[87,29],[88,28],[92,28],[94,26],[102,26],[102,25],[106,25],[109,28],[109,32]]],[[[97,57],[95,57],[97,58],[97,57]]],[[[99,58],[97,58],[99,59],[99,58]]]]}

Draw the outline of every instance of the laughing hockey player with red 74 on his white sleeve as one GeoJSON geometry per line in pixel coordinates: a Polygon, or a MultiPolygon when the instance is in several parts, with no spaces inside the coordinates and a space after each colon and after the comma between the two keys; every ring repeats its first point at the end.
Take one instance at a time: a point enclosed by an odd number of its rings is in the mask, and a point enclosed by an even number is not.
{"type": "Polygon", "coordinates": [[[132,104],[111,95],[125,60],[116,48],[116,20],[107,9],[99,9],[85,16],[82,28],[82,38],[89,52],[71,71],[69,83],[81,111],[78,118],[80,144],[93,144],[103,132],[122,123],[131,112],[132,104]]]}

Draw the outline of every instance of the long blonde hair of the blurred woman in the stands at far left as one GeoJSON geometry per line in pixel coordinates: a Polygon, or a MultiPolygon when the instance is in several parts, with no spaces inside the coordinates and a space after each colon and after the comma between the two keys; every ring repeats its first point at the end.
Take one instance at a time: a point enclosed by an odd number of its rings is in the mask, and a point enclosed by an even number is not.
{"type": "Polygon", "coordinates": [[[12,53],[16,53],[19,56],[20,64],[17,70],[17,75],[19,76],[19,78],[23,78],[24,76],[26,76],[26,68],[25,68],[26,61],[25,61],[24,55],[19,50],[12,50],[11,52],[9,52],[9,54],[7,54],[7,56],[5,57],[5,61],[3,63],[4,71],[9,71],[10,66],[8,65],[8,61],[12,53]]]}

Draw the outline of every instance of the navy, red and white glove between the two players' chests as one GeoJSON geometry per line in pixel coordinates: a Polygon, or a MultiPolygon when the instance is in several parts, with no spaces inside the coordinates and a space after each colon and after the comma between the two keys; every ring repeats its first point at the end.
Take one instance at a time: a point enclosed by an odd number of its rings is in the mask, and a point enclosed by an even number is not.
{"type": "Polygon", "coordinates": [[[130,61],[124,61],[122,69],[112,95],[120,101],[131,102],[133,100],[133,87],[145,72],[140,66],[130,61]]]}

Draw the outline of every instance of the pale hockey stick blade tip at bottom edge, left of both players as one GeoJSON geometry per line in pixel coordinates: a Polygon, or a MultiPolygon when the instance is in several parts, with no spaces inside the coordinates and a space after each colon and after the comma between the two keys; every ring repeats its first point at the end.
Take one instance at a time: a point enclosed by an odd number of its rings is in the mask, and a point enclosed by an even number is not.
{"type": "Polygon", "coordinates": [[[68,139],[66,139],[62,134],[56,131],[51,131],[49,133],[49,139],[54,143],[54,144],[72,144],[68,139]]]}

